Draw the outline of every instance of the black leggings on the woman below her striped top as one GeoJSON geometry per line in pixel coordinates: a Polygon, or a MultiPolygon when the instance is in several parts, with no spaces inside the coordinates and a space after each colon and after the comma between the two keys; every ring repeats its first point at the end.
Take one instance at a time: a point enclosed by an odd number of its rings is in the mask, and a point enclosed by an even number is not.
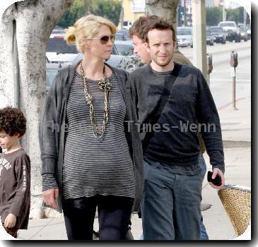
{"type": "Polygon", "coordinates": [[[98,206],[100,240],[124,240],[134,198],[95,195],[63,200],[64,222],[69,240],[93,240],[93,222],[98,206]]]}

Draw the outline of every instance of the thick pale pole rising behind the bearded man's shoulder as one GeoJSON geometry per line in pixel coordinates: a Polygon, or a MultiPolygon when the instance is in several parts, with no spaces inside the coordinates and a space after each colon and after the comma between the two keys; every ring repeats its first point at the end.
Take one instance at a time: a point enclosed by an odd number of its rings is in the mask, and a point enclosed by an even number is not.
{"type": "Polygon", "coordinates": [[[207,78],[205,0],[192,1],[193,62],[207,78]]]}

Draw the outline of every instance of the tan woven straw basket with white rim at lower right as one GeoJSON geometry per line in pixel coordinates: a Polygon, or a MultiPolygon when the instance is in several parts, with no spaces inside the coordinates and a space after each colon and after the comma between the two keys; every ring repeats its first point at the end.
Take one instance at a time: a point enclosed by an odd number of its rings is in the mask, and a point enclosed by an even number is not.
{"type": "Polygon", "coordinates": [[[218,190],[218,196],[233,224],[235,233],[245,232],[251,219],[251,189],[244,186],[225,185],[218,190]]]}

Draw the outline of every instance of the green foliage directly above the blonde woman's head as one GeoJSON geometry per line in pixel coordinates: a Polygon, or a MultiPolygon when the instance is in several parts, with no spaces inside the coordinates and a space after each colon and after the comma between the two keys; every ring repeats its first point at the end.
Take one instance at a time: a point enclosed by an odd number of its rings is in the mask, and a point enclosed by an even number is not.
{"type": "Polygon", "coordinates": [[[76,0],[57,25],[67,28],[88,13],[108,18],[118,25],[121,8],[121,0],[76,0]]]}

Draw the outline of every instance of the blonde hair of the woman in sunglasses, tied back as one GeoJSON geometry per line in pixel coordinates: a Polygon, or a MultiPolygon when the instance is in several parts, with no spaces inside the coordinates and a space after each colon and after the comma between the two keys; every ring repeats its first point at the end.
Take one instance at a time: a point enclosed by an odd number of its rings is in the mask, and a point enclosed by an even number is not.
{"type": "Polygon", "coordinates": [[[64,40],[67,44],[76,44],[78,51],[83,52],[83,39],[98,35],[102,25],[107,25],[112,35],[115,35],[117,28],[111,20],[101,16],[89,15],[78,19],[74,25],[66,29],[64,40]]]}

